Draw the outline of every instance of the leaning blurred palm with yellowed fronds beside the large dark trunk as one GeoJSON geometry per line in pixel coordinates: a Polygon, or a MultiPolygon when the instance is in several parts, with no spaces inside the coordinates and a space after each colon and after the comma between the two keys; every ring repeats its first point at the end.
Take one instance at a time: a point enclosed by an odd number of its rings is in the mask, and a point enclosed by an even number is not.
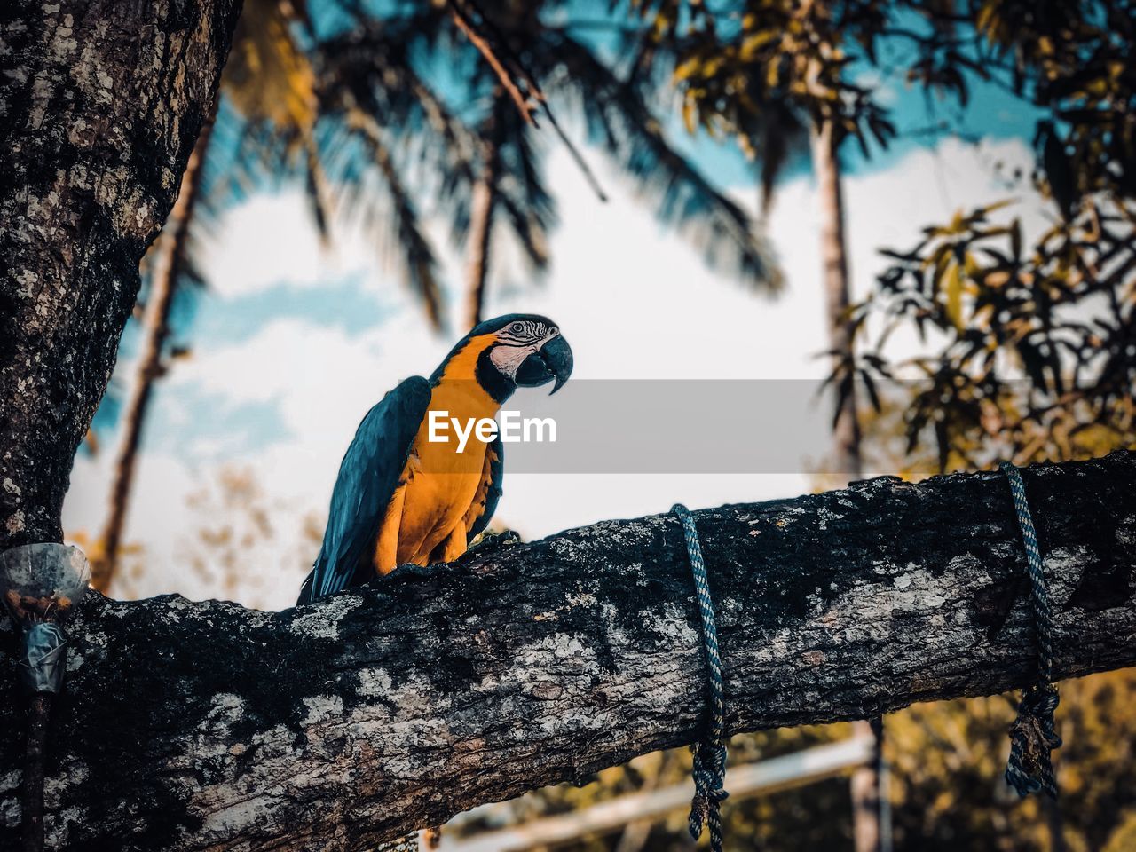
{"type": "MultiPolygon", "coordinates": [[[[393,257],[401,259],[403,277],[424,306],[435,327],[442,325],[441,287],[436,256],[425,236],[401,172],[384,142],[384,128],[351,100],[349,78],[317,50],[306,50],[300,33],[311,32],[307,7],[299,0],[247,0],[233,48],[222,78],[222,103],[202,131],[190,165],[182,177],[178,201],[161,236],[147,259],[147,300],[142,317],[143,341],[133,386],[122,419],[122,436],[115,457],[107,519],[92,554],[92,585],[106,592],[114,578],[122,549],[123,532],[137,463],[142,432],[154,382],[165,375],[170,351],[172,312],[177,293],[203,282],[193,262],[194,235],[212,215],[239,199],[248,185],[266,176],[299,178],[306,189],[312,218],[328,237],[333,211],[361,211],[376,232],[390,227],[394,234],[393,257]],[[350,105],[350,109],[348,109],[350,105]],[[225,135],[239,137],[234,167],[228,175],[207,181],[211,142],[219,135],[215,123],[225,125],[225,135]],[[321,128],[320,125],[328,125],[321,128]],[[360,167],[352,141],[361,140],[370,153],[373,169],[360,167]],[[393,200],[381,215],[370,207],[375,193],[359,191],[369,173],[393,200]]],[[[310,40],[310,36],[309,36],[310,40]]],[[[391,50],[386,61],[406,60],[404,52],[391,50]]],[[[371,62],[374,64],[374,62],[371,62]]],[[[383,77],[368,77],[379,85],[383,77]]],[[[394,85],[398,85],[395,83],[394,85]]],[[[415,98],[431,100],[432,92],[420,81],[415,98]]],[[[370,99],[374,102],[374,99],[370,99]]],[[[404,128],[429,134],[429,122],[414,122],[404,98],[387,99],[402,105],[404,128]]],[[[426,115],[425,109],[423,115],[426,115]]],[[[399,126],[395,124],[394,126],[399,126]]],[[[441,147],[450,143],[444,132],[432,135],[441,147]]],[[[461,186],[460,177],[451,190],[461,186]]]]}

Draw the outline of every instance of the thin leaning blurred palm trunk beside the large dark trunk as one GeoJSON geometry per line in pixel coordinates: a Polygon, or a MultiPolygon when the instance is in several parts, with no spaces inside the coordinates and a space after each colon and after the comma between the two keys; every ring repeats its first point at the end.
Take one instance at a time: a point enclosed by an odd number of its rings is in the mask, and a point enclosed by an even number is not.
{"type": "Polygon", "coordinates": [[[156,247],[157,256],[153,274],[150,277],[150,294],[147,298],[143,320],[145,340],[142,343],[137,374],[123,417],[123,436],[115,459],[107,521],[102,535],[99,536],[97,554],[91,560],[91,585],[103,593],[110,588],[118,566],[142,426],[150,408],[153,383],[162,374],[162,352],[166,339],[169,336],[169,314],[174,306],[177,278],[184,264],[185,244],[201,187],[202,166],[212,127],[214,116],[210,116],[201,128],[193,153],[190,154],[185,173],[182,175],[181,192],[156,247]]]}

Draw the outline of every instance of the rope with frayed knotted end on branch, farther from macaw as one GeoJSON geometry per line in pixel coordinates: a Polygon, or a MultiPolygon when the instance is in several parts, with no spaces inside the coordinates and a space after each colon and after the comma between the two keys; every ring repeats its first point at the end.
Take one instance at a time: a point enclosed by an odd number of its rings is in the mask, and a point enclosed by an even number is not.
{"type": "Polygon", "coordinates": [[[1060,698],[1053,686],[1053,617],[1050,613],[1045,569],[1021,474],[1009,461],[1001,462],[999,467],[1010,483],[1021,541],[1026,549],[1038,649],[1037,683],[1022,693],[1018,718],[1010,726],[1010,759],[1005,766],[1005,780],[1020,796],[1042,791],[1051,799],[1056,799],[1058,785],[1051,752],[1061,747],[1061,737],[1056,735],[1053,725],[1053,712],[1060,698]]]}

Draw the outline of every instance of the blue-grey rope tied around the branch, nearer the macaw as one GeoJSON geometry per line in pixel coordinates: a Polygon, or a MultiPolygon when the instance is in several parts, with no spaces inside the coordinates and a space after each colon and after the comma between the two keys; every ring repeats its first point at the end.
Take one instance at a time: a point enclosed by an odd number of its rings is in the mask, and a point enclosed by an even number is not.
{"type": "Polygon", "coordinates": [[[694,591],[699,601],[702,623],[702,648],[705,652],[707,670],[710,675],[710,726],[702,740],[691,746],[694,753],[694,799],[691,801],[688,827],[691,836],[702,836],[702,826],[710,829],[710,849],[721,852],[721,815],[719,805],[728,793],[726,777],[726,694],[721,678],[721,655],[718,652],[718,628],[715,624],[713,599],[707,580],[707,566],[702,559],[702,545],[694,526],[694,516],[682,503],[675,503],[671,511],[683,525],[686,538],[686,556],[694,575],[694,591]]]}

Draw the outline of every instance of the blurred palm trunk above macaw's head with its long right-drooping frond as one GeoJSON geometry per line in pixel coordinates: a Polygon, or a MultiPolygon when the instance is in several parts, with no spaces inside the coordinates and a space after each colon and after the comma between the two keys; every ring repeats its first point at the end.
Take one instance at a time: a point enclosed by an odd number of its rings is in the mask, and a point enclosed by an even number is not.
{"type": "Polygon", "coordinates": [[[484,107],[477,123],[481,157],[469,227],[467,321],[482,318],[499,232],[518,242],[534,273],[549,264],[548,232],[556,206],[544,186],[537,125],[559,132],[554,116],[561,112],[579,119],[637,197],[666,225],[698,244],[708,262],[759,290],[775,291],[779,274],[758,228],[670,144],[662,119],[650,106],[652,86],[603,61],[570,17],[549,23],[563,17],[562,11],[558,2],[499,3],[490,20],[479,10],[496,49],[520,70],[537,100],[546,98],[546,109],[536,114],[537,122],[524,120],[508,108],[510,98],[488,64],[475,69],[471,89],[482,95],[484,107]]]}

